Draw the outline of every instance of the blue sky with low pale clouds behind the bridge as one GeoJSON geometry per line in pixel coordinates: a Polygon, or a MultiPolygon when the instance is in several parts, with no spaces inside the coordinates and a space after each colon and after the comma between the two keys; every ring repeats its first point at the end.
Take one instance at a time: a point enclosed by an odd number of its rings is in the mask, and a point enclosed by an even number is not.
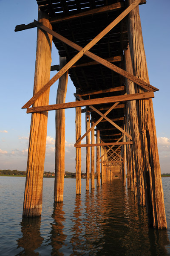
{"type": "MultiPolygon", "coordinates": [[[[21,107],[32,97],[37,29],[14,32],[15,26],[37,19],[36,0],[0,0],[0,169],[26,170],[31,115],[21,107]],[[6,12],[8,10],[8,12],[6,12]]],[[[150,84],[159,88],[153,99],[161,172],[170,173],[169,42],[170,1],[148,0],[139,6],[150,84]]],[[[52,65],[59,64],[52,47],[52,65]]],[[[51,72],[54,76],[55,72],[51,72]]],[[[56,101],[57,82],[50,104],[56,101]]],[[[74,85],[68,81],[66,102],[74,101],[74,85]]],[[[65,110],[65,171],[75,171],[75,110],[65,110]]],[[[82,114],[82,134],[85,132],[82,114]]],[[[48,114],[45,171],[54,172],[55,111],[48,114]]],[[[82,149],[85,171],[85,148],[82,149]]]]}

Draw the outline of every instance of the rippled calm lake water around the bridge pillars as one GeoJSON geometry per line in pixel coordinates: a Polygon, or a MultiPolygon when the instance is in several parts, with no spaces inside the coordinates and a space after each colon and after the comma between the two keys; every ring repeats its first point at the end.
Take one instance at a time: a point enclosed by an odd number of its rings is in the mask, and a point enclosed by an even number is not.
{"type": "Polygon", "coordinates": [[[147,226],[145,209],[119,180],[75,195],[65,179],[64,203],[54,206],[54,179],[45,178],[40,218],[22,218],[25,178],[0,177],[1,256],[170,255],[170,177],[162,178],[167,230],[147,226]]]}

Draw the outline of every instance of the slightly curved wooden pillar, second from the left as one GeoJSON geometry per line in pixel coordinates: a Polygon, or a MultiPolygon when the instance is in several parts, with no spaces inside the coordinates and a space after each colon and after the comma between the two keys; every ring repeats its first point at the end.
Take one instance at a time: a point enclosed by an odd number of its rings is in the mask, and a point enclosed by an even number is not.
{"type": "MultiPolygon", "coordinates": [[[[66,57],[59,57],[59,69],[67,63],[66,57]]],[[[56,104],[65,103],[68,71],[59,79],[56,104]]],[[[56,110],[56,154],[54,201],[63,202],[65,173],[65,109],[56,110]]]]}

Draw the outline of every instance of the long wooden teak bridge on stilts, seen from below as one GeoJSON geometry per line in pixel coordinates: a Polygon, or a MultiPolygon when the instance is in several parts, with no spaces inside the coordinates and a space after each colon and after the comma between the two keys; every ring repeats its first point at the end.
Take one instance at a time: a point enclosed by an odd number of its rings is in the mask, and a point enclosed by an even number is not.
{"type": "Polygon", "coordinates": [[[34,92],[23,106],[32,113],[23,216],[40,216],[42,212],[51,110],[56,110],[54,200],[63,201],[65,108],[75,108],[76,194],[81,194],[81,147],[86,147],[86,190],[90,169],[94,188],[96,147],[97,186],[116,177],[125,186],[126,166],[127,188],[137,196],[140,206],[146,206],[149,225],[167,228],[151,99],[159,89],[149,84],[139,16],[139,4],[143,3],[146,1],[37,0],[38,21],[16,26],[15,31],[37,27],[34,92]],[[60,56],[59,65],[54,66],[52,40],[60,56]],[[50,79],[52,70],[58,72],[50,79]],[[65,103],[68,74],[76,88],[76,100],[65,103]],[[49,105],[49,90],[57,79],[56,104],[49,105]],[[82,112],[86,120],[84,135],[82,112]],[[81,144],[85,137],[86,144],[81,144]]]}

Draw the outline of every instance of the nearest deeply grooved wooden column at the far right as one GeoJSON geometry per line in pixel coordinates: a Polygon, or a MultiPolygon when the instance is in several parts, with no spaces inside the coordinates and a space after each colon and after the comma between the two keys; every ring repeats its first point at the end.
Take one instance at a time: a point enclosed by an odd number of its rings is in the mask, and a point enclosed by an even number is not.
{"type": "MultiPolygon", "coordinates": [[[[128,0],[128,4],[131,3],[133,0],[128,0]]],[[[139,6],[133,9],[128,16],[128,35],[133,74],[149,83],[139,6]]],[[[136,87],[136,92],[142,91],[144,90],[136,87]]],[[[167,228],[152,99],[139,100],[137,113],[148,222],[155,228],[167,228]]]]}

